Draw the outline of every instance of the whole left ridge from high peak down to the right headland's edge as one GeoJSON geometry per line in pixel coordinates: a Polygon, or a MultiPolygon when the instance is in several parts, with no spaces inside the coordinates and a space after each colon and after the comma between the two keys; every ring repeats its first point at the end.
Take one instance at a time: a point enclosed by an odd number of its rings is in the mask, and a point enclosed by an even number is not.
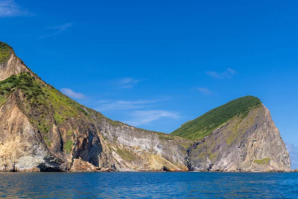
{"type": "Polygon", "coordinates": [[[182,146],[190,146],[188,140],[134,128],[78,104],[2,42],[0,58],[0,170],[188,170],[182,146]],[[174,154],[167,153],[171,147],[174,154]]]}

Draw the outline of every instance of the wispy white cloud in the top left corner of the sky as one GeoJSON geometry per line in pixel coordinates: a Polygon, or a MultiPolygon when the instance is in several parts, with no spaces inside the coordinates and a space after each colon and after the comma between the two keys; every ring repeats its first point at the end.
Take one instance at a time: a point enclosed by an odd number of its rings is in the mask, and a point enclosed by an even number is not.
{"type": "Polygon", "coordinates": [[[30,16],[27,9],[17,4],[14,0],[0,0],[0,17],[30,16]]]}

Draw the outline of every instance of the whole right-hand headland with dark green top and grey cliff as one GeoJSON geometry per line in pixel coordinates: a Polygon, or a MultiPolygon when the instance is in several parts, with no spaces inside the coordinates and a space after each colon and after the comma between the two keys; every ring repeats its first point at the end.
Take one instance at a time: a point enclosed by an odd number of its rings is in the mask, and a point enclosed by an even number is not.
{"type": "Polygon", "coordinates": [[[270,111],[252,96],[212,109],[172,134],[199,140],[188,149],[190,170],[291,170],[289,153],[270,111]]]}

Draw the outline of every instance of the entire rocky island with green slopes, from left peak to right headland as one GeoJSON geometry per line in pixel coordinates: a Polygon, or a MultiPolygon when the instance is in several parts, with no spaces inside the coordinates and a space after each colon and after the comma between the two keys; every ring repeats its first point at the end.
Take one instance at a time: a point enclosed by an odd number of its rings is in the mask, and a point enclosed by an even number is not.
{"type": "Polygon", "coordinates": [[[0,171],[290,171],[264,105],[218,110],[178,136],[129,126],[46,84],[0,42],[0,171]]]}

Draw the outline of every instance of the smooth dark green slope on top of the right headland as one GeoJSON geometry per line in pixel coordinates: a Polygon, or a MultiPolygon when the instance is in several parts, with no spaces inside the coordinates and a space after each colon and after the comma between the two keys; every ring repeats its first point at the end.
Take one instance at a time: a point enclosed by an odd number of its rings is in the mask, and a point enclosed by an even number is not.
{"type": "Polygon", "coordinates": [[[190,140],[199,140],[209,135],[216,128],[237,115],[245,117],[248,112],[262,102],[253,96],[246,96],[227,102],[202,116],[184,123],[171,134],[190,140]]]}

